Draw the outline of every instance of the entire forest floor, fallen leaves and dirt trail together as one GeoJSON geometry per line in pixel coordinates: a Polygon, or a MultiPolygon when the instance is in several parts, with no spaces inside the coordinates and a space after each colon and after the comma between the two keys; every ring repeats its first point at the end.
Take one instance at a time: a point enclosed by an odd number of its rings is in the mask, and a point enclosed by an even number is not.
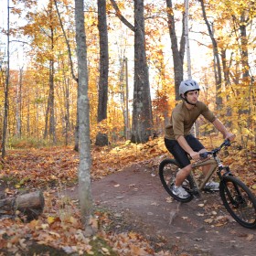
{"type": "MultiPolygon", "coordinates": [[[[251,162],[254,171],[246,172],[242,155],[237,149],[232,153],[235,151],[235,158],[228,157],[225,162],[242,166],[234,168],[234,173],[255,188],[255,161],[251,162]]],[[[168,196],[158,176],[158,165],[167,156],[161,140],[136,148],[123,144],[114,151],[93,149],[91,189],[98,212],[95,223],[101,222],[98,233],[103,240],[122,256],[254,256],[256,229],[245,229],[234,221],[218,192],[205,193],[186,204],[168,196]]],[[[1,190],[14,196],[20,189],[44,187],[46,207],[43,215],[30,223],[0,219],[0,255],[65,255],[75,251],[92,255],[91,247],[84,247],[88,240],[81,239],[78,232],[77,166],[78,154],[70,148],[9,153],[0,175],[1,190]],[[11,181],[6,176],[11,176],[11,181]],[[29,254],[31,240],[57,251],[42,252],[40,247],[41,252],[29,254]]],[[[106,245],[100,247],[101,253],[94,255],[115,255],[106,245]]]]}

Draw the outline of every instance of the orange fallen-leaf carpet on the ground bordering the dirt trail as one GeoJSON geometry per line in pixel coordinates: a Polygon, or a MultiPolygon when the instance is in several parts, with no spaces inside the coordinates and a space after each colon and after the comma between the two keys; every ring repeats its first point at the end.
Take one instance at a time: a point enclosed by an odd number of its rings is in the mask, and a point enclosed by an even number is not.
{"type": "MultiPolygon", "coordinates": [[[[211,148],[218,146],[221,139],[205,139],[203,142],[211,148]]],[[[168,155],[163,138],[147,144],[123,143],[104,148],[92,147],[91,178],[93,180],[102,178],[122,171],[124,166],[152,159],[158,155],[168,155]]],[[[255,159],[251,155],[251,152],[241,150],[238,144],[233,144],[224,162],[229,164],[232,171],[245,183],[255,189],[255,159]],[[250,155],[250,165],[246,162],[248,155],[250,155]]],[[[111,222],[104,212],[96,212],[95,217],[91,219],[92,225],[97,229],[97,236],[93,239],[84,236],[78,201],[59,196],[65,187],[77,183],[78,165],[79,155],[72,147],[7,152],[0,173],[0,187],[5,196],[14,197],[17,193],[42,189],[46,205],[43,214],[30,222],[23,221],[18,212],[15,213],[15,218],[9,218],[10,213],[6,213],[8,216],[5,217],[2,212],[0,249],[5,250],[5,253],[9,252],[10,255],[18,255],[20,251],[27,251],[37,243],[38,246],[47,245],[62,250],[63,253],[97,255],[93,245],[93,241],[96,241],[100,244],[97,248],[99,255],[114,255],[114,251],[126,251],[126,255],[156,255],[149,242],[137,233],[117,234],[99,229],[99,226],[105,227],[111,222]],[[98,242],[99,238],[108,242],[102,244],[98,242]]],[[[168,253],[162,251],[157,255],[170,255],[168,253]]]]}

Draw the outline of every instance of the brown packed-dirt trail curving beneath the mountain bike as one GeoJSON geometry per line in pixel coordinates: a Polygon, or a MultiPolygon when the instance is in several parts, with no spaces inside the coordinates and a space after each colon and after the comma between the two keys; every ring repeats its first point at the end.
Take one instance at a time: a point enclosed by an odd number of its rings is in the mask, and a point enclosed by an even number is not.
{"type": "MultiPolygon", "coordinates": [[[[77,188],[66,193],[78,195],[77,188]]],[[[92,182],[92,195],[95,204],[112,210],[117,231],[139,231],[155,247],[175,250],[173,255],[256,255],[256,229],[231,219],[218,192],[187,204],[173,201],[161,186],[157,165],[130,165],[92,182]]]]}

